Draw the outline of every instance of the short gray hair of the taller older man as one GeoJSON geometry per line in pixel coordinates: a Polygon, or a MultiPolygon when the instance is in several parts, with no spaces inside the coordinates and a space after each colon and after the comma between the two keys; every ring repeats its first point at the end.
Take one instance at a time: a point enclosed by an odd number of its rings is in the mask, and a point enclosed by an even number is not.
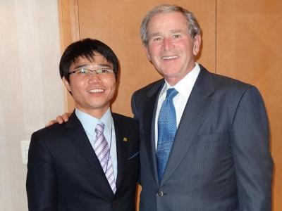
{"type": "Polygon", "coordinates": [[[142,44],[144,46],[147,46],[148,44],[148,23],[149,20],[154,16],[159,13],[171,13],[171,12],[178,12],[182,13],[183,16],[186,18],[187,23],[188,23],[188,33],[190,34],[191,38],[194,39],[197,34],[202,33],[202,29],[197,22],[197,18],[193,13],[190,11],[186,10],[183,7],[176,6],[176,5],[170,5],[170,4],[163,4],[160,6],[156,6],[155,8],[152,9],[152,11],[149,11],[145,18],[142,20],[142,24],[140,26],[140,36],[142,39],[142,44]]]}

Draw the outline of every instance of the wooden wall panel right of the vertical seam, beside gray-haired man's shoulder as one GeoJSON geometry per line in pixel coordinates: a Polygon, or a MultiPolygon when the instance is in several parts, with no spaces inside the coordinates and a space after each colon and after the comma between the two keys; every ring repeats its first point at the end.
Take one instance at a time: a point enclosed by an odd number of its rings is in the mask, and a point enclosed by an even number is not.
{"type": "Polygon", "coordinates": [[[282,210],[282,1],[218,0],[216,72],[255,84],[271,127],[273,210],[282,210]]]}

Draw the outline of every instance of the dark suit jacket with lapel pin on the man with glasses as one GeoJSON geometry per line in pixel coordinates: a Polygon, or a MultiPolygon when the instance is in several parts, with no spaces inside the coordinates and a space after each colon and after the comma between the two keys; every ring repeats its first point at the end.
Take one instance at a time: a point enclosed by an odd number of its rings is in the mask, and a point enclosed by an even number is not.
{"type": "Polygon", "coordinates": [[[68,122],[32,134],[27,164],[30,211],[135,210],[139,127],[130,117],[112,116],[118,158],[116,194],[73,113],[68,122]]]}

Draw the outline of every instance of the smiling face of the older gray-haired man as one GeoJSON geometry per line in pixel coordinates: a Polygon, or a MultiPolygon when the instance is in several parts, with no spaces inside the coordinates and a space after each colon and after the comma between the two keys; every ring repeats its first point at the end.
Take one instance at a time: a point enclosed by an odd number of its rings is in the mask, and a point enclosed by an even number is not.
{"type": "Polygon", "coordinates": [[[188,22],[178,12],[159,13],[148,23],[146,53],[166,81],[174,85],[195,67],[201,37],[188,33],[188,22]]]}

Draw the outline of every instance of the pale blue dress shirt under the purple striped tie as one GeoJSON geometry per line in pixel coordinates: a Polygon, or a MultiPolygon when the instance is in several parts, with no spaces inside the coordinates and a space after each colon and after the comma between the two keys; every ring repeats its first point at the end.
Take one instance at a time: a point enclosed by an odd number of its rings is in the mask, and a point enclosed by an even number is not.
{"type": "Polygon", "coordinates": [[[113,163],[114,176],[116,178],[118,175],[118,160],[116,155],[116,133],[114,130],[114,120],[113,117],[111,116],[110,108],[106,110],[106,113],[104,113],[104,115],[100,120],[93,117],[92,115],[88,115],[87,113],[78,110],[78,108],[75,108],[75,115],[78,117],[78,120],[80,120],[83,128],[85,129],[85,132],[92,145],[93,150],[94,150],[94,141],[96,140],[96,132],[95,132],[96,125],[99,121],[105,124],[104,136],[109,144],[111,162],[113,163]]]}

